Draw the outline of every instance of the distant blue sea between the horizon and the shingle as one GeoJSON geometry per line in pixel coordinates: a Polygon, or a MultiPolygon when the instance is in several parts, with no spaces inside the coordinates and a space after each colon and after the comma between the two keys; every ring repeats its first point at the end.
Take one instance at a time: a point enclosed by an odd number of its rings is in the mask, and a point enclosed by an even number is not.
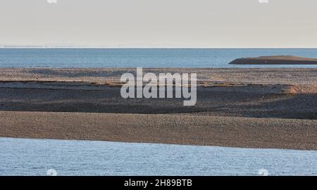
{"type": "Polygon", "coordinates": [[[317,65],[228,65],[235,58],[281,55],[317,58],[317,49],[0,49],[0,67],[317,68],[317,65]]]}

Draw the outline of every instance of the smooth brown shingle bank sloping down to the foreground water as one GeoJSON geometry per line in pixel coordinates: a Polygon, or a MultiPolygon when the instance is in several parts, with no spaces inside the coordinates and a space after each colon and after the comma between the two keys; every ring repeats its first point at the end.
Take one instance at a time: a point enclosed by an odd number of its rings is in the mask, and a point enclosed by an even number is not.
{"type": "Polygon", "coordinates": [[[0,137],[317,150],[317,120],[0,111],[0,137]]]}

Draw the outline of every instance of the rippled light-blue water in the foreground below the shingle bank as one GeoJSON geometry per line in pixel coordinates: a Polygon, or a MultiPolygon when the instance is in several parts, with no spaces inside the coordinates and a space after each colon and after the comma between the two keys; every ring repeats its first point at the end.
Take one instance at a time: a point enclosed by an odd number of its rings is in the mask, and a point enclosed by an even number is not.
{"type": "Polygon", "coordinates": [[[317,175],[317,151],[0,138],[0,175],[317,175]]]}

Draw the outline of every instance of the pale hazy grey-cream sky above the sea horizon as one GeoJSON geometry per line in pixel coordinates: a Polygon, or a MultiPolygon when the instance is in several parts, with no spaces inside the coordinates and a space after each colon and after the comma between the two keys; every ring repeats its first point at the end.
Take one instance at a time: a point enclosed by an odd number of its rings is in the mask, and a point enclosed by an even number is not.
{"type": "Polygon", "coordinates": [[[317,47],[316,0],[0,0],[0,44],[317,47]]]}

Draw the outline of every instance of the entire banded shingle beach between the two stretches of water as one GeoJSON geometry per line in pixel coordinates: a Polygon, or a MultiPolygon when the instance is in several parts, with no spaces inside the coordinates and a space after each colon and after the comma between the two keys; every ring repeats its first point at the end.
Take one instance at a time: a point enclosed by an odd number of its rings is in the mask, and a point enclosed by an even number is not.
{"type": "Polygon", "coordinates": [[[317,69],[197,72],[197,105],[123,99],[132,68],[0,68],[0,137],[317,150],[317,69]]]}

